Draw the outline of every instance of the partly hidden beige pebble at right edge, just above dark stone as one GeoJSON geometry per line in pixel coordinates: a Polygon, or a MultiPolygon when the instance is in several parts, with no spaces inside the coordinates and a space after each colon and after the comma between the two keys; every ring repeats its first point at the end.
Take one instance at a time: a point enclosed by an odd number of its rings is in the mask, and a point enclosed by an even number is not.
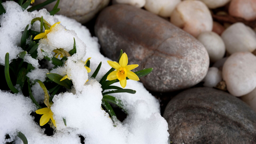
{"type": "Polygon", "coordinates": [[[242,96],[241,99],[256,111],[256,88],[249,94],[242,96]]]}

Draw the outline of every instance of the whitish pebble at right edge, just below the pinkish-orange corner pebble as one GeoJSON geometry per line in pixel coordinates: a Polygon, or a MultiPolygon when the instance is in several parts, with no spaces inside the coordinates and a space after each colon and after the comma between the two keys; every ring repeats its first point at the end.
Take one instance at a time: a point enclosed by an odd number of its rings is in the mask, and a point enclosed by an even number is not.
{"type": "Polygon", "coordinates": [[[229,54],[256,49],[256,34],[243,23],[229,26],[221,35],[229,54]]]}

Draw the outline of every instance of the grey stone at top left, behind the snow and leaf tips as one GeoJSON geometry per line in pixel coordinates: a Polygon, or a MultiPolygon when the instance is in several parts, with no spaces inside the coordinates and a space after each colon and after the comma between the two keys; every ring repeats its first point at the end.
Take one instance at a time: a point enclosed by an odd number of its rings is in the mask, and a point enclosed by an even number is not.
{"type": "MultiPolygon", "coordinates": [[[[45,0],[35,0],[35,4],[45,0]]],[[[110,0],[61,0],[58,8],[58,15],[65,15],[84,24],[91,20],[101,9],[109,4],[110,0]]],[[[46,5],[48,11],[51,11],[57,1],[46,5]]]]}

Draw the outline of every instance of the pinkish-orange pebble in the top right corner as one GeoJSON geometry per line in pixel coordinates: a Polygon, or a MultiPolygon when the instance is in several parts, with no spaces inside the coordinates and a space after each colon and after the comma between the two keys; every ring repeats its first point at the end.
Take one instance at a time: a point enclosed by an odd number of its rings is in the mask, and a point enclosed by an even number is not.
{"type": "Polygon", "coordinates": [[[256,0],[232,0],[229,14],[252,21],[256,19],[256,0]]]}

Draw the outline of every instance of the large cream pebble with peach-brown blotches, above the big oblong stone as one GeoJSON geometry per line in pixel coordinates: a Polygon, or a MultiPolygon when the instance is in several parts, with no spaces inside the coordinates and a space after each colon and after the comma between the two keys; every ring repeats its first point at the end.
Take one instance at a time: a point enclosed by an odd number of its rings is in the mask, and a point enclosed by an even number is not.
{"type": "Polygon", "coordinates": [[[187,0],[176,6],[171,15],[171,23],[197,37],[202,32],[212,30],[213,20],[203,2],[187,0]]]}

